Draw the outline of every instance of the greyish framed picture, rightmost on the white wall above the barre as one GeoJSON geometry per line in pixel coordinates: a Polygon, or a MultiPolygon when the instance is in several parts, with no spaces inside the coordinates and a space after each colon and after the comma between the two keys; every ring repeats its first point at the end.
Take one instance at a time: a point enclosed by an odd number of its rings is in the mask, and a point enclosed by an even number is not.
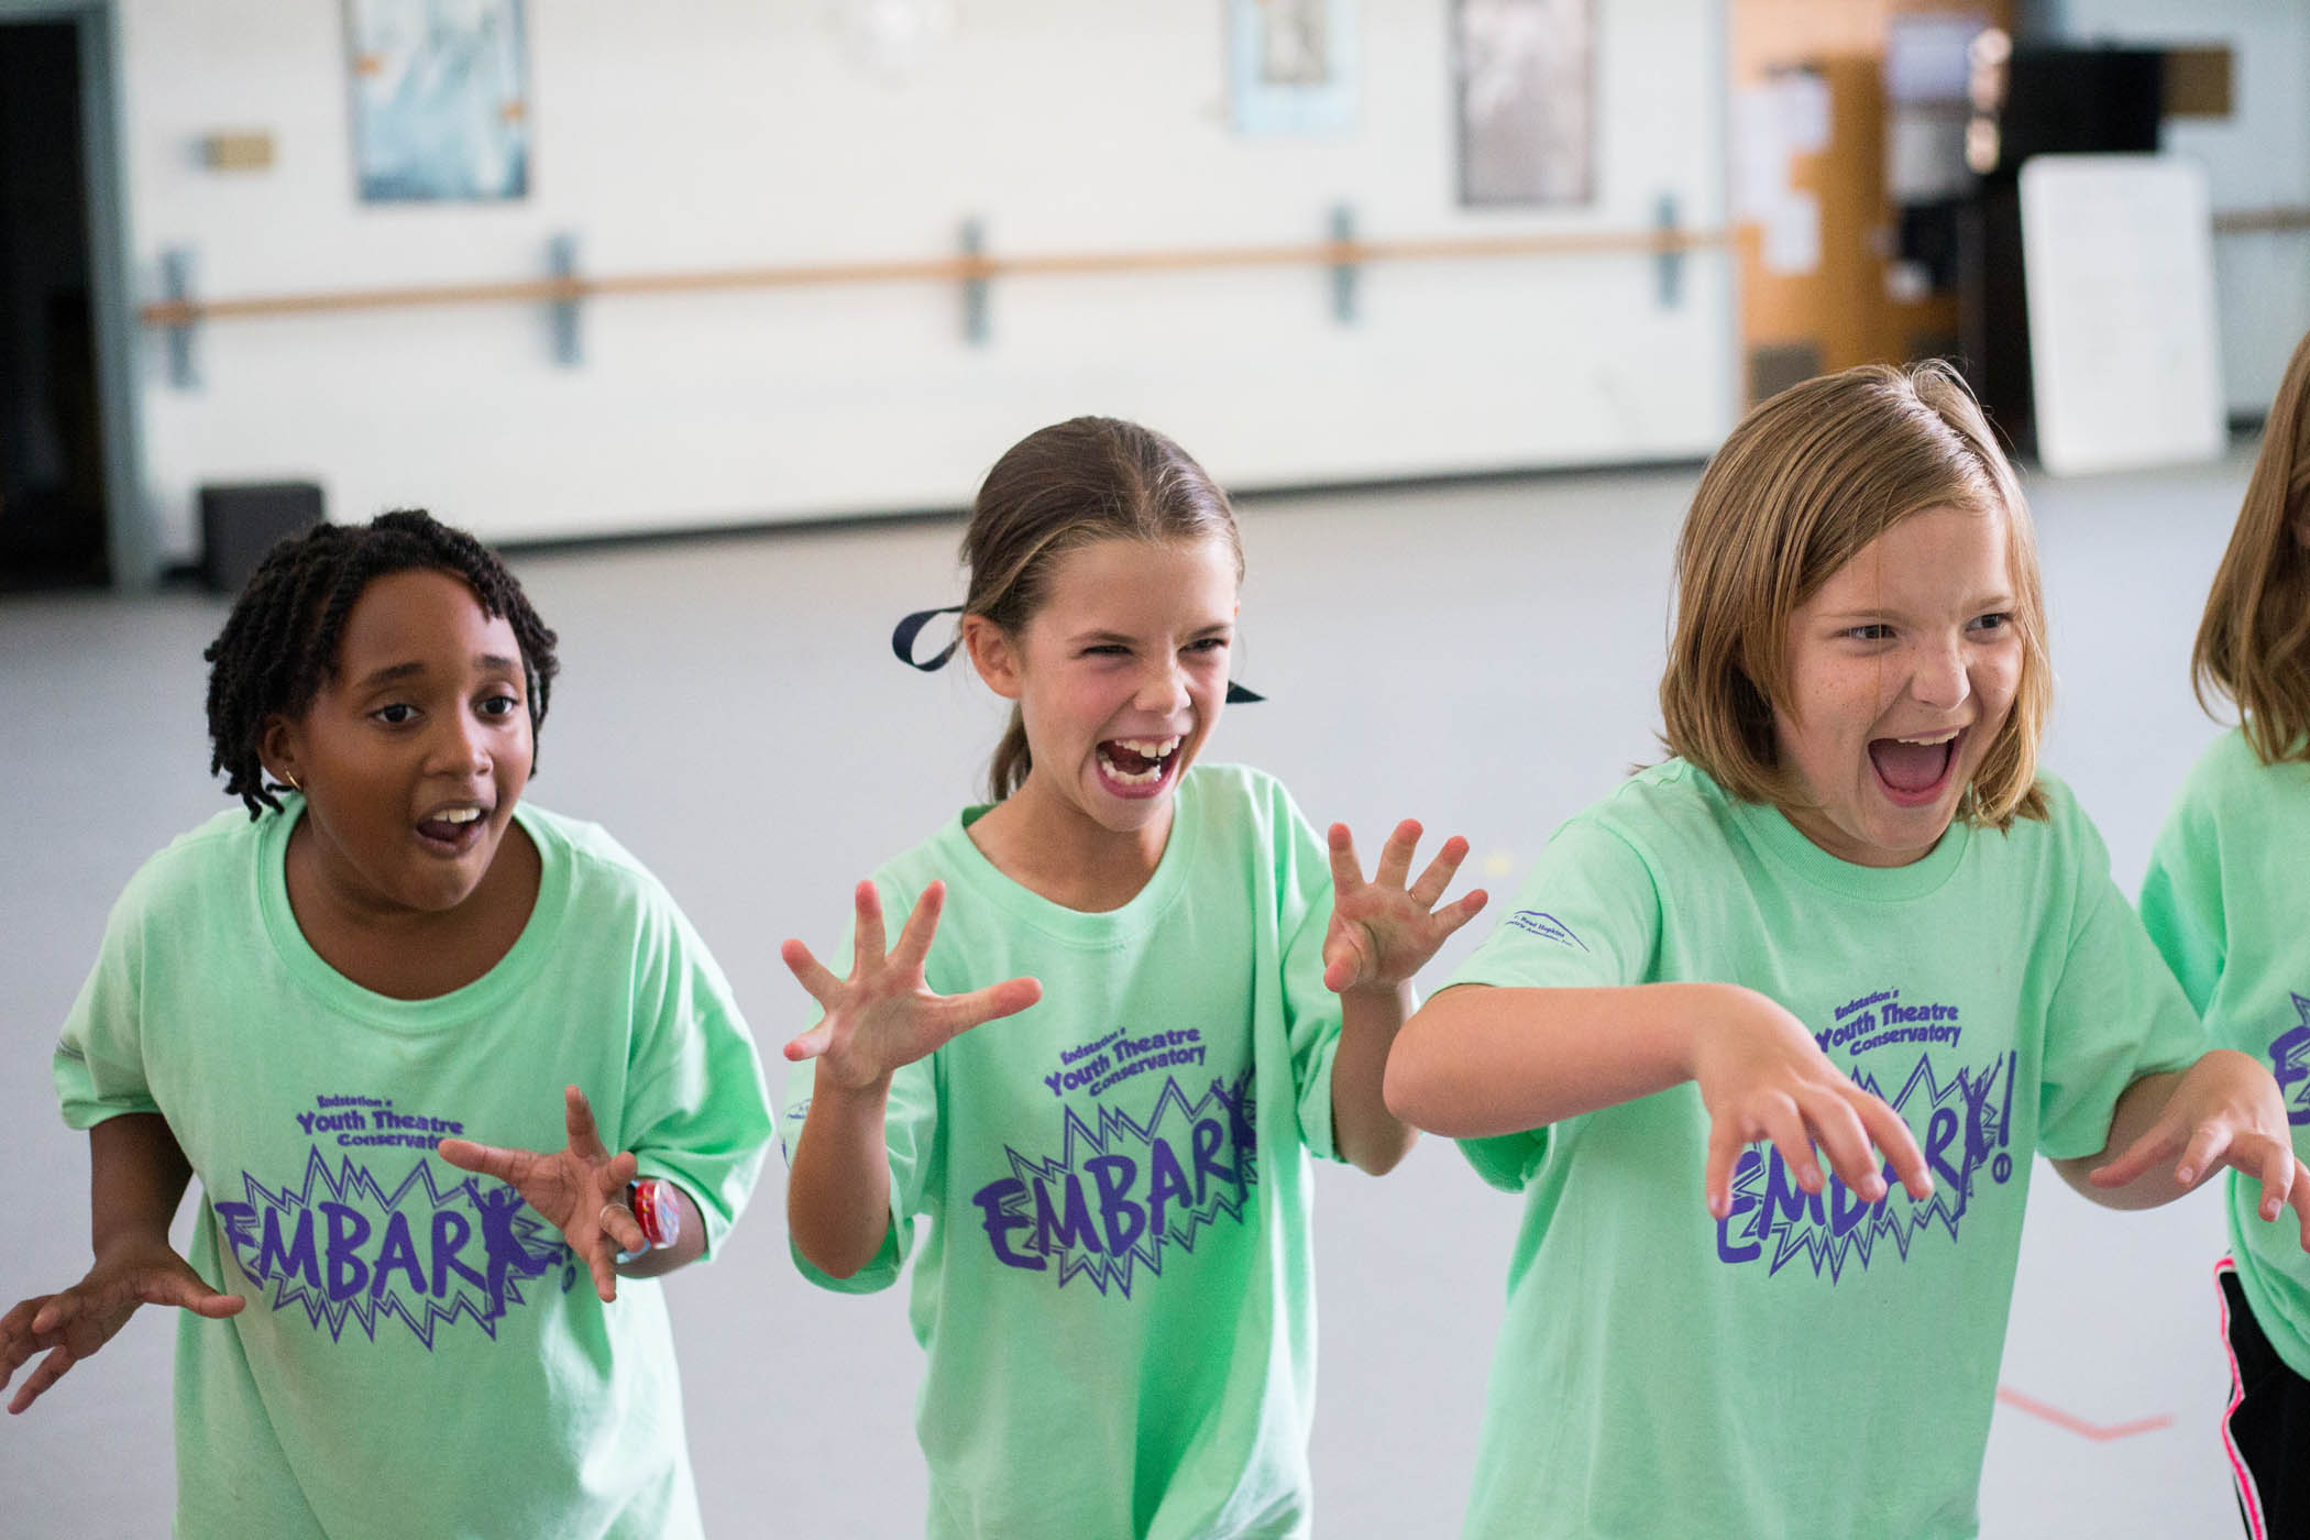
{"type": "Polygon", "coordinates": [[[1460,203],[1596,196],[1594,0],[1453,0],[1460,203]]]}

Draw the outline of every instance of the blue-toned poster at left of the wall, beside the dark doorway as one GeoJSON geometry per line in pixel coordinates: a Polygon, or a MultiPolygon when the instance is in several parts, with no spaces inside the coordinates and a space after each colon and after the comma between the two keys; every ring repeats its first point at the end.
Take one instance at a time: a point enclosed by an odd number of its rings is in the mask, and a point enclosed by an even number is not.
{"type": "Polygon", "coordinates": [[[522,0],[344,0],[363,203],[529,194],[522,0]]]}

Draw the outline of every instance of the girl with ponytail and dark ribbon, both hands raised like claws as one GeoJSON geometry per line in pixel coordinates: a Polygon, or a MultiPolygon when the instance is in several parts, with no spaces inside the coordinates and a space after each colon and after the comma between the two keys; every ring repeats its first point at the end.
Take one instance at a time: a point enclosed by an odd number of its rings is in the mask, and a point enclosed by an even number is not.
{"type": "Polygon", "coordinates": [[[797,1265],[862,1291],[915,1254],[933,1535],[1305,1535],[1310,1157],[1411,1147],[1381,1069],[1483,907],[1437,907],[1467,843],[1411,882],[1407,822],[1365,882],[1344,827],[1197,764],[1243,554],[1169,439],[1030,434],[963,556],[945,656],[1016,711],[991,806],[859,884],[850,956],[785,944],[822,1007],[785,1051],[797,1265]]]}

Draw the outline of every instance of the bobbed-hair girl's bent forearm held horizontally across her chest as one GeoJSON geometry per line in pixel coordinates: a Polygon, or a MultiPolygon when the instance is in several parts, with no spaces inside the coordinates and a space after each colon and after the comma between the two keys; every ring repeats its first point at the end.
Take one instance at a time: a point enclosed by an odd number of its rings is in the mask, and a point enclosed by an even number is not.
{"type": "Polygon", "coordinates": [[[1451,1138],[1541,1129],[1691,1081],[1700,1027],[1753,1004],[1735,984],[1465,984],[1404,1023],[1388,1106],[1451,1138]]]}

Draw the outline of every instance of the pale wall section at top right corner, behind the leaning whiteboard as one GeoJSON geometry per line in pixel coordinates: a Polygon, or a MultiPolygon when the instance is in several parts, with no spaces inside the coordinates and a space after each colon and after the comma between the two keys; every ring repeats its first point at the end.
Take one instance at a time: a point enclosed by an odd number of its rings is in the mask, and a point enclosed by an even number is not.
{"type": "MultiPolygon", "coordinates": [[[[2044,16],[2063,42],[2231,51],[2231,115],[2176,118],[2164,148],[2206,166],[2213,210],[2310,205],[2310,5],[2305,0],[2061,0],[2044,16]]],[[[2222,390],[2231,411],[2271,404],[2287,356],[2310,330],[2310,231],[2215,236],[2222,390]]]]}

